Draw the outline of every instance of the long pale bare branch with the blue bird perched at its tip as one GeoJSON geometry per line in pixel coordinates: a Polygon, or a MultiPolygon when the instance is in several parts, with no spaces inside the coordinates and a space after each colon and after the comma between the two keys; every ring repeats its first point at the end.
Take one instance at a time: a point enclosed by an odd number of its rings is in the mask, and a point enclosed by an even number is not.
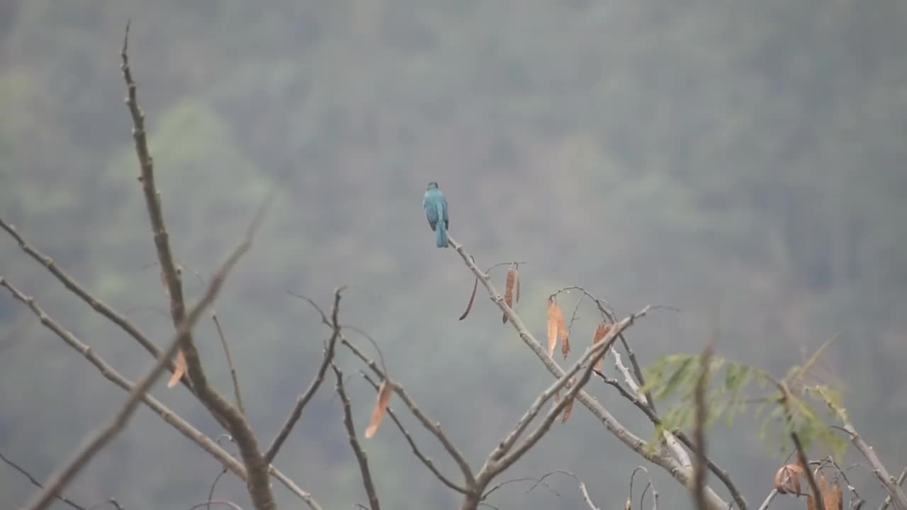
{"type": "MultiPolygon", "coordinates": [[[[451,239],[449,236],[448,240],[450,241],[451,246],[453,246],[453,249],[460,254],[460,258],[463,259],[463,263],[466,267],[482,282],[483,287],[488,291],[488,294],[494,303],[502,310],[502,312],[507,314],[507,318],[512,324],[513,329],[517,331],[523,343],[532,349],[532,352],[541,360],[541,363],[549,372],[551,372],[552,376],[561,378],[564,374],[563,369],[554,361],[554,359],[548,356],[547,350],[541,346],[541,343],[539,343],[534,336],[532,336],[532,333],[526,328],[520,316],[503,302],[501,293],[494,288],[493,283],[489,280],[488,274],[476,265],[473,257],[463,249],[462,244],[451,239]]],[[[627,427],[624,427],[617,418],[611,416],[610,412],[605,407],[585,391],[580,390],[576,399],[580,401],[580,404],[582,404],[583,407],[589,409],[592,415],[597,417],[612,435],[616,436],[620,442],[636,452],[637,455],[649,460],[649,462],[661,466],[673,476],[680,485],[685,487],[691,486],[692,473],[690,469],[679,466],[674,458],[665,455],[663,452],[649,449],[649,445],[645,440],[631,433],[627,427]]],[[[706,493],[709,510],[727,509],[727,502],[722,500],[710,487],[707,487],[706,493]]]]}

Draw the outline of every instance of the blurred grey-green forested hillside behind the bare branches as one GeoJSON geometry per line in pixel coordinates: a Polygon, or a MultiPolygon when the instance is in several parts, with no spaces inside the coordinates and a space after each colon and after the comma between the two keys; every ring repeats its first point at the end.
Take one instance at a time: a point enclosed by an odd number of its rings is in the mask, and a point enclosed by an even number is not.
{"type": "MultiPolygon", "coordinates": [[[[551,382],[481,290],[473,314],[457,320],[472,275],[453,250],[434,248],[421,209],[425,183],[439,181],[451,234],[481,265],[529,262],[520,311],[540,336],[547,295],[573,284],[619,315],[680,309],[630,331],[644,363],[700,348],[715,310],[718,353],[779,376],[840,334],[824,377],[844,387],[856,427],[889,468],[907,463],[902,0],[6,0],[0,216],[162,343],[172,326],[151,266],[119,67],[129,17],[183,266],[210,276],[268,187],[280,187],[217,305],[265,440],[327,338],[287,290],[329,306],[336,286],[353,285],[341,320],[378,340],[392,376],[473,464],[551,382]]],[[[0,274],[128,377],[151,362],[5,235],[0,274]]],[[[200,282],[189,271],[184,280],[197,296],[200,282]]],[[[579,315],[581,344],[596,324],[592,310],[579,315]]],[[[197,338],[229,392],[210,320],[197,338]]],[[[341,363],[355,376],[348,353],[341,363]]],[[[357,377],[347,386],[361,431],[374,392],[357,377]]],[[[327,507],[349,508],[365,496],[332,387],[328,378],[276,464],[327,507]]],[[[645,417],[612,388],[593,382],[590,391],[649,437],[645,417]]],[[[161,384],[155,394],[219,434],[183,388],[161,384]]],[[[0,452],[44,478],[123,398],[0,295],[0,452]]],[[[783,460],[756,432],[739,420],[710,434],[710,453],[753,507],[783,460]]],[[[393,425],[365,446],[387,508],[454,505],[393,425]]],[[[508,475],[570,469],[602,508],[619,508],[642,462],[578,407],[508,475]]],[[[87,505],[115,495],[128,508],[188,508],[218,473],[140,409],[68,494],[87,505]]],[[[653,474],[661,505],[688,507],[687,493],[653,474]]],[[[866,471],[852,474],[872,495],[866,471]]],[[[490,503],[583,505],[570,479],[551,483],[561,496],[511,485],[490,503]]],[[[0,466],[0,507],[33,490],[0,466]]],[[[297,507],[282,487],[276,494],[297,507]]],[[[221,481],[218,497],[248,504],[243,495],[235,477],[221,481]]]]}

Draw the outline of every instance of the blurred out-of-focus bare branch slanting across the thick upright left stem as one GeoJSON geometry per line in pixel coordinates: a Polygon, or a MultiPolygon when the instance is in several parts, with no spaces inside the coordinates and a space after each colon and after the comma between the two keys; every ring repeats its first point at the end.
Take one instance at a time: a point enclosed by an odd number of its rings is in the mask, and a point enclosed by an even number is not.
{"type": "MultiPolygon", "coordinates": [[[[189,337],[190,330],[195,327],[202,312],[204,312],[214,299],[217,298],[218,292],[223,285],[224,280],[226,280],[229,270],[236,265],[236,262],[249,250],[250,246],[251,243],[249,239],[247,239],[240,244],[236,250],[233,250],[228,260],[218,270],[205,294],[199,299],[199,302],[190,309],[190,313],[181,320],[180,327],[173,336],[170,346],[164,351],[163,357],[154,363],[148,374],[144,378],[141,378],[139,383],[132,389],[132,393],[130,394],[129,399],[127,399],[126,404],[104,427],[93,432],[91,439],[83,444],[76,455],[73,456],[73,459],[51,477],[51,481],[47,483],[44,490],[34,498],[32,503],[26,506],[28,510],[43,510],[44,508],[47,508],[53,502],[55,495],[60,493],[60,491],[69,484],[69,481],[72,480],[73,476],[86,466],[92,457],[101,451],[102,447],[110,442],[123,427],[126,427],[126,424],[129,423],[129,420],[132,417],[132,413],[135,412],[135,409],[139,406],[141,397],[148,392],[151,385],[153,385],[161,376],[167,367],[167,361],[176,353],[180,344],[189,337]]],[[[4,280],[0,278],[0,283],[3,281],[4,280]]],[[[269,492],[270,489],[268,488],[268,493],[269,492]]],[[[273,500],[272,506],[269,508],[273,508],[273,500]]]]}

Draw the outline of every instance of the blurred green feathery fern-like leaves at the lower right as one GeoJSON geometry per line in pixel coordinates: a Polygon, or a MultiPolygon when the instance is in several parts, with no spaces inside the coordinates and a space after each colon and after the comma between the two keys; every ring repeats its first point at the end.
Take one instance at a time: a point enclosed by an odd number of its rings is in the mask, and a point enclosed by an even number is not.
{"type": "MultiPolygon", "coordinates": [[[[795,433],[807,450],[818,442],[840,458],[847,443],[828,427],[814,404],[843,409],[841,397],[831,387],[805,384],[805,374],[814,358],[803,367],[792,368],[787,377],[779,380],[765,370],[713,356],[707,367],[710,384],[706,389],[706,427],[723,419],[731,428],[737,417],[752,413],[754,419],[762,420],[760,441],[776,445],[775,453],[788,452],[788,439],[795,433]],[[753,395],[754,388],[758,395],[753,395]]],[[[658,445],[664,431],[689,430],[694,426],[694,389],[700,370],[697,354],[668,355],[646,370],[644,391],[651,391],[652,397],[660,401],[678,399],[663,413],[661,424],[655,430],[655,440],[650,443],[653,447],[658,445]]]]}

